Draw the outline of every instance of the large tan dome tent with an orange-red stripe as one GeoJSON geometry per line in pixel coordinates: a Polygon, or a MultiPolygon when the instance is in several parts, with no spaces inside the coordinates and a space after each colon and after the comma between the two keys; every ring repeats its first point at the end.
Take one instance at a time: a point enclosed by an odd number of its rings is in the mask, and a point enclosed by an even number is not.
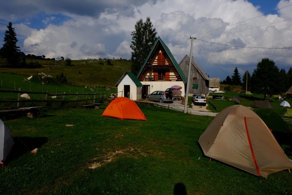
{"type": "Polygon", "coordinates": [[[199,144],[206,156],[265,178],[292,168],[267,125],[242,105],[222,110],[200,136],[199,144]]]}

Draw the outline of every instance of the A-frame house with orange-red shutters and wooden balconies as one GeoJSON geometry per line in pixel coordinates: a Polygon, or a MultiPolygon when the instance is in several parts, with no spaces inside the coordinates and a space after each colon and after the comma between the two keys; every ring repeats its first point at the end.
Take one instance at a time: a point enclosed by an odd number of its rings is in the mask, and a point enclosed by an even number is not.
{"type": "Polygon", "coordinates": [[[154,91],[165,91],[173,85],[182,87],[181,90],[173,91],[174,95],[185,95],[187,78],[160,37],[156,39],[137,78],[143,85],[142,97],[154,91]]]}

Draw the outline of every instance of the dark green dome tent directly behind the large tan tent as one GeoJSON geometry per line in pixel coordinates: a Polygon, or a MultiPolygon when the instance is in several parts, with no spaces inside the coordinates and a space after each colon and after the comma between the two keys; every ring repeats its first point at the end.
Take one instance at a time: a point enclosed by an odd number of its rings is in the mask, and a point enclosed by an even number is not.
{"type": "Polygon", "coordinates": [[[287,124],[276,112],[267,108],[260,108],[255,112],[272,131],[292,133],[291,125],[287,124]]]}

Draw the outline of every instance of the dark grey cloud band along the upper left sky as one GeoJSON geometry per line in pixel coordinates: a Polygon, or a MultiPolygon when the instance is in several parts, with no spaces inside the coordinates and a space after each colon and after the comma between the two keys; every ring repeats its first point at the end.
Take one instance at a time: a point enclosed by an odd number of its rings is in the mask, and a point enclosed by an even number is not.
{"type": "MultiPolygon", "coordinates": [[[[1,0],[4,1],[4,0],[1,0]]],[[[47,0],[10,0],[1,3],[0,18],[15,21],[31,18],[37,13],[61,13],[67,16],[88,16],[98,18],[102,12],[119,13],[121,16],[132,17],[135,6],[145,3],[156,4],[157,0],[84,0],[84,1],[47,1],[47,0]]],[[[44,21],[46,23],[46,20],[44,21]]]]}

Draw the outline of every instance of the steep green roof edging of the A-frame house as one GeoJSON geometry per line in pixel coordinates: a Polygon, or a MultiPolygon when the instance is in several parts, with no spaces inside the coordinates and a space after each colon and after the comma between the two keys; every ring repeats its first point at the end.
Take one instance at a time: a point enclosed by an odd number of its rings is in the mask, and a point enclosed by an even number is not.
{"type": "Polygon", "coordinates": [[[140,74],[141,74],[143,68],[145,67],[147,61],[148,61],[149,58],[150,58],[150,55],[152,54],[154,48],[155,48],[156,45],[158,44],[158,41],[161,42],[162,47],[164,47],[166,53],[168,54],[169,58],[171,59],[172,64],[174,65],[175,69],[178,71],[178,74],[180,75],[180,77],[183,79],[183,82],[184,82],[184,83],[187,83],[187,78],[185,77],[185,74],[183,73],[182,69],[180,69],[180,66],[178,66],[178,63],[177,63],[176,60],[174,59],[172,53],[170,52],[170,50],[168,49],[168,47],[166,46],[166,44],[161,40],[160,37],[157,37],[157,39],[156,39],[154,45],[153,45],[152,48],[151,48],[151,51],[149,52],[147,58],[146,58],[145,61],[144,61],[143,66],[141,67],[141,69],[140,69],[140,71],[139,71],[139,73],[138,73],[138,75],[137,75],[137,78],[139,78],[139,76],[140,76],[140,74]]]}

